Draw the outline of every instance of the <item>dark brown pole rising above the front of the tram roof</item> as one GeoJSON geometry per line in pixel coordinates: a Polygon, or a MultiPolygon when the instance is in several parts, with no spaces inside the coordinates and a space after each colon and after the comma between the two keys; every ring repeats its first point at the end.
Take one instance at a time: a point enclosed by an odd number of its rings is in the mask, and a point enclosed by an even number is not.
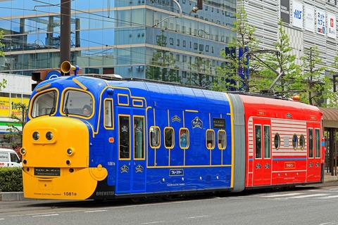
{"type": "Polygon", "coordinates": [[[70,61],[70,7],[70,0],[61,0],[60,65],[70,61]]]}

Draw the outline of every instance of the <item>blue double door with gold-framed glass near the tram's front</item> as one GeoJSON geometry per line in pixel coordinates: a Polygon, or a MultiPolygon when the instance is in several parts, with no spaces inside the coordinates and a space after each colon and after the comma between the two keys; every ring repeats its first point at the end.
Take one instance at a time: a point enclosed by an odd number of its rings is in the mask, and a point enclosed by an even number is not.
{"type": "Polygon", "coordinates": [[[116,194],[146,189],[144,109],[118,108],[116,194]]]}

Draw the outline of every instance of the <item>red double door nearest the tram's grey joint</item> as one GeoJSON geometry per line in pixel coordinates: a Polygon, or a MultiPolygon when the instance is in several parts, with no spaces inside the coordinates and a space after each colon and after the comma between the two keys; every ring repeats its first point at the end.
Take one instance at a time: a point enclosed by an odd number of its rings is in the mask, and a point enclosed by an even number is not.
{"type": "Polygon", "coordinates": [[[253,186],[271,184],[271,123],[253,119],[253,186]]]}

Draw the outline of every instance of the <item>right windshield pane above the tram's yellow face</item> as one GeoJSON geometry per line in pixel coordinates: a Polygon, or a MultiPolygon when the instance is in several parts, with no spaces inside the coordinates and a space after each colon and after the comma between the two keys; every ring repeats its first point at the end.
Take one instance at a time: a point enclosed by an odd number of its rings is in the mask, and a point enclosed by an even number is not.
{"type": "Polygon", "coordinates": [[[65,115],[90,117],[93,113],[93,98],[84,91],[65,91],[62,112],[65,115]]]}

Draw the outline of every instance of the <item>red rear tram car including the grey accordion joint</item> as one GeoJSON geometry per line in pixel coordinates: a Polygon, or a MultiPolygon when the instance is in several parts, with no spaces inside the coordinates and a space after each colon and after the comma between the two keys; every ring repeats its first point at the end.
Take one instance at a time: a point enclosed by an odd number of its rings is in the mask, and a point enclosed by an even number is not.
{"type": "Polygon", "coordinates": [[[234,111],[243,115],[237,122],[234,118],[234,191],[323,182],[323,114],[318,108],[298,101],[229,95],[234,111]]]}

